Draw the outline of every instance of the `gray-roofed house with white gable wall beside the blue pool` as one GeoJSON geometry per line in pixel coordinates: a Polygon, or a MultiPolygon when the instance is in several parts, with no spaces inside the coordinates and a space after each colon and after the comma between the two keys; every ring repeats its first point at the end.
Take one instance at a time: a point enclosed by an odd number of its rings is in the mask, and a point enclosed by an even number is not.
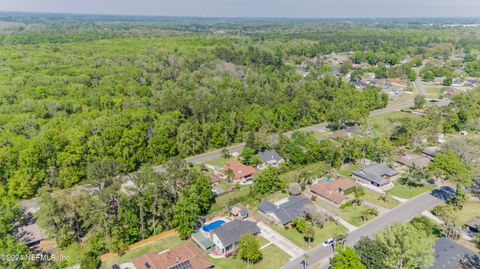
{"type": "Polygon", "coordinates": [[[257,235],[260,233],[260,228],[253,221],[232,220],[210,233],[211,240],[215,244],[215,252],[228,257],[237,249],[242,235],[257,235]]]}

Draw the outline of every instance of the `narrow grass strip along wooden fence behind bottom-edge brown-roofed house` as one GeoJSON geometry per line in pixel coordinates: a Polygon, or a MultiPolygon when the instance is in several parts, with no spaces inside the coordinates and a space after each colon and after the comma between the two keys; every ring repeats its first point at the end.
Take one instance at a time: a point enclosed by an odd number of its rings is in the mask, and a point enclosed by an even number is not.
{"type": "Polygon", "coordinates": [[[133,258],[136,258],[148,252],[161,252],[170,248],[174,248],[181,245],[182,243],[185,243],[185,241],[180,240],[177,235],[169,236],[167,238],[160,239],[155,243],[151,243],[146,246],[127,251],[123,256],[112,257],[103,262],[100,268],[112,268],[112,265],[114,264],[121,264],[131,261],[133,258]]]}

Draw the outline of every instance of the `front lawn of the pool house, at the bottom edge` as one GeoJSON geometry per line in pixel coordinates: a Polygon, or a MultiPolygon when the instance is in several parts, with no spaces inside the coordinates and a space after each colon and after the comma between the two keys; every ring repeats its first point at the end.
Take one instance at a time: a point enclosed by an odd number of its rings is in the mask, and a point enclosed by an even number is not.
{"type": "Polygon", "coordinates": [[[257,264],[248,265],[238,257],[229,257],[226,259],[213,259],[209,257],[209,260],[215,265],[216,269],[277,269],[281,268],[290,259],[290,256],[287,253],[283,252],[273,244],[261,251],[263,259],[257,264]]]}

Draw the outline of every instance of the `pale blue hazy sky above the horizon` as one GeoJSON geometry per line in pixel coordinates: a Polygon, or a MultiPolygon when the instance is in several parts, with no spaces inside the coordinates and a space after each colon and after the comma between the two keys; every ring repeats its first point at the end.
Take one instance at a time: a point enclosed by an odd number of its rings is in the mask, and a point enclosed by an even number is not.
{"type": "Polygon", "coordinates": [[[480,0],[0,0],[0,10],[192,17],[480,17],[480,0]]]}

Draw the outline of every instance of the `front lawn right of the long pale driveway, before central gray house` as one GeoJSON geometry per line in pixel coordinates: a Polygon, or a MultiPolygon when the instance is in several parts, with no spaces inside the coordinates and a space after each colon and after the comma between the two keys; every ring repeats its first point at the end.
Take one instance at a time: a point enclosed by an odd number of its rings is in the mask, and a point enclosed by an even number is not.
{"type": "Polygon", "coordinates": [[[290,240],[295,245],[305,249],[309,247],[316,247],[326,239],[332,238],[337,234],[345,233],[347,231],[345,227],[333,221],[327,223],[325,226],[323,226],[323,228],[315,226],[315,238],[309,245],[309,243],[305,241],[303,235],[299,233],[295,228],[285,229],[284,227],[280,227],[278,225],[272,225],[271,227],[279,234],[285,236],[285,238],[290,240]]]}

